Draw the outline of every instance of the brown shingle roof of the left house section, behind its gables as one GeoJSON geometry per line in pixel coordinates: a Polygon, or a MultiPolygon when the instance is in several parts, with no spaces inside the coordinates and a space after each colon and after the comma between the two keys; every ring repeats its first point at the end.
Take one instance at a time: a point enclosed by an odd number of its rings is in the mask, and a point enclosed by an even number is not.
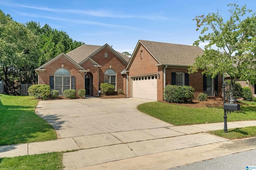
{"type": "MultiPolygon", "coordinates": [[[[82,62],[84,59],[86,59],[87,57],[89,57],[92,53],[94,53],[95,51],[97,51],[98,49],[100,49],[102,46],[99,45],[81,45],[80,47],[66,53],[66,55],[68,55],[68,57],[70,57],[71,59],[73,59],[76,63],[80,63],[82,62]]],[[[123,55],[122,53],[119,53],[118,51],[116,51],[124,60],[126,60],[127,62],[130,60],[129,57],[127,57],[126,55],[123,55]]]]}

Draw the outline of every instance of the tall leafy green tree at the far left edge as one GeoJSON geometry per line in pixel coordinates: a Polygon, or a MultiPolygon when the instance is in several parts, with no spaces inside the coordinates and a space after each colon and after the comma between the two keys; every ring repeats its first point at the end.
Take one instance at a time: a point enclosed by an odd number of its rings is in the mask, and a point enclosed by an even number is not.
{"type": "Polygon", "coordinates": [[[7,94],[16,91],[16,82],[22,82],[24,70],[34,69],[38,65],[38,45],[38,36],[0,11],[0,66],[7,94]]]}

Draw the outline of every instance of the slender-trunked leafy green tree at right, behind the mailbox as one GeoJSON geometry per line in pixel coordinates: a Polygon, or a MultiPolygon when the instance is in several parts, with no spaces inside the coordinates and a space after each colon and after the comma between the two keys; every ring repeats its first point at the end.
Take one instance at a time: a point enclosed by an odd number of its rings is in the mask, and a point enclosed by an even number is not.
{"type": "Polygon", "coordinates": [[[240,8],[236,4],[230,7],[229,18],[224,21],[219,10],[207,16],[196,16],[196,31],[202,26],[201,35],[193,45],[209,42],[204,47],[204,54],[189,66],[189,72],[203,70],[206,76],[228,74],[231,81],[231,96],[237,78],[256,83],[256,17],[249,14],[246,5],[240,8]],[[214,47],[215,46],[215,47],[214,47]],[[216,49],[217,48],[217,49],[216,49]]]}

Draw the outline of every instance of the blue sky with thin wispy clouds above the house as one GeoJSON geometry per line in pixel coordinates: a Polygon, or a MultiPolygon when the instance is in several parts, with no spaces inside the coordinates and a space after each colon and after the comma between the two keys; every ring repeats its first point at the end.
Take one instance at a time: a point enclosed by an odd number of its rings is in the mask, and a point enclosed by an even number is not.
{"type": "Polygon", "coordinates": [[[230,3],[256,12],[255,0],[0,0],[0,10],[20,23],[47,23],[73,40],[132,53],[139,39],[192,45],[200,35],[192,19],[217,8],[228,19],[230,3]]]}

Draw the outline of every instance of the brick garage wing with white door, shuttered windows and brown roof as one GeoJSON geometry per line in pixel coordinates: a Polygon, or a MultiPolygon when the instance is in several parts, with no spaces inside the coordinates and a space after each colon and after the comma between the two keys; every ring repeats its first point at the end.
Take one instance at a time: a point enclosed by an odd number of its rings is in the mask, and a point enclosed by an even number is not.
{"type": "Polygon", "coordinates": [[[222,76],[216,78],[202,75],[202,70],[188,74],[188,65],[202,55],[200,47],[139,40],[132,57],[122,72],[125,93],[132,98],[164,100],[164,88],[168,84],[188,85],[195,89],[194,95],[221,94],[222,76]]]}

